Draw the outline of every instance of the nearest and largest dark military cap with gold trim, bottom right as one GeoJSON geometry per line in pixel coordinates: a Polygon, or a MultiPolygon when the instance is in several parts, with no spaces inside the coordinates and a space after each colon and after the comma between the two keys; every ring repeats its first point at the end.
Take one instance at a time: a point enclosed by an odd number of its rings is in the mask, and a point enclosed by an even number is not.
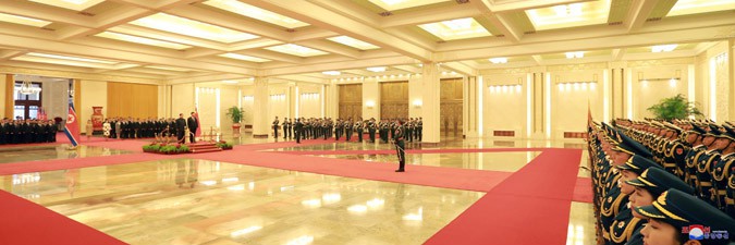
{"type": "Polygon", "coordinates": [[[724,231],[735,234],[735,220],[714,206],[691,194],[671,188],[662,193],[652,205],[635,207],[644,217],[669,223],[677,231],[689,225],[710,228],[710,232],[724,231]]]}

